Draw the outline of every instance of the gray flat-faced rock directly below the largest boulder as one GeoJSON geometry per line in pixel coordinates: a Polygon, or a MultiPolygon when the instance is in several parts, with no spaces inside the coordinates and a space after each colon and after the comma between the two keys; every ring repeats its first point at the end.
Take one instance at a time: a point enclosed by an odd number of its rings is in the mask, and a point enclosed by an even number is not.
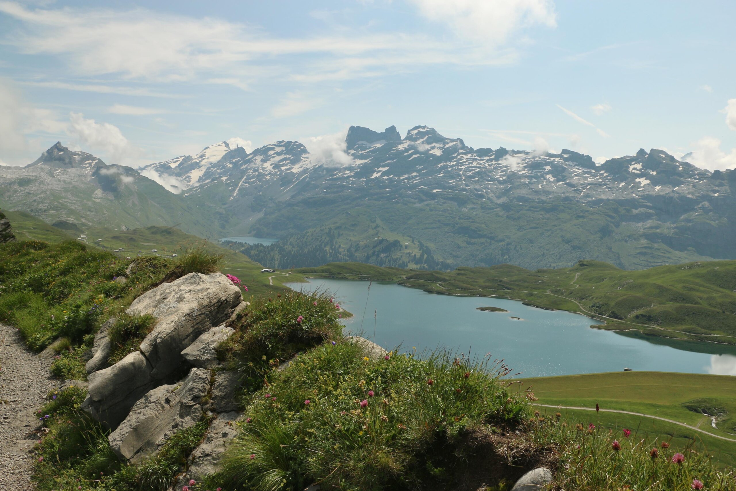
{"type": "Polygon", "coordinates": [[[210,370],[193,368],[183,381],[152,389],[107,439],[121,459],[138,462],[158,451],[176,431],[202,419],[202,398],[210,388],[210,370]]]}

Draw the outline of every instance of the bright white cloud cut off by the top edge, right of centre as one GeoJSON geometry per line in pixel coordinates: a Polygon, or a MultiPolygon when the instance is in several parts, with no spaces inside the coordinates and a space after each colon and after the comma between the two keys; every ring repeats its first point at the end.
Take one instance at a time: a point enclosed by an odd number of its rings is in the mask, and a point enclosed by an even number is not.
{"type": "Polygon", "coordinates": [[[431,21],[457,35],[499,46],[520,29],[557,26],[551,0],[409,0],[431,21]]]}

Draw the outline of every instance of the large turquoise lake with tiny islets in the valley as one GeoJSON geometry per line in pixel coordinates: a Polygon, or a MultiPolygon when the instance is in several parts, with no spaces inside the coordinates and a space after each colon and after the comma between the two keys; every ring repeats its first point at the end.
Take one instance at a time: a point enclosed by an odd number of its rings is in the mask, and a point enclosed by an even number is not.
{"type": "Polygon", "coordinates": [[[504,358],[523,377],[632,370],[736,375],[736,349],[712,343],[653,342],[590,328],[594,319],[567,311],[546,311],[515,300],[457,297],[422,292],[395,283],[314,279],[290,283],[300,290],[328,289],[355,317],[351,333],[391,350],[453,350],[504,358]],[[366,300],[368,302],[366,303],[366,300]],[[493,306],[508,312],[484,312],[493,306]],[[365,317],[364,317],[365,311],[365,317]],[[375,322],[374,322],[375,312],[375,322]],[[519,317],[520,319],[512,319],[519,317]],[[679,344],[678,344],[679,343],[679,344]],[[676,346],[676,347],[675,347],[676,346]],[[715,353],[715,354],[713,354],[715,353]]]}

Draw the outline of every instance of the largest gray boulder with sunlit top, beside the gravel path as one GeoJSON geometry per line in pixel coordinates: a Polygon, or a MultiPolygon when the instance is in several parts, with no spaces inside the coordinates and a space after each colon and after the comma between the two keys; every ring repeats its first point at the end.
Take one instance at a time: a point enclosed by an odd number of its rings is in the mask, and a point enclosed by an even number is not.
{"type": "Polygon", "coordinates": [[[138,351],[89,375],[89,393],[82,407],[108,428],[117,428],[146,392],[176,380],[185,367],[184,348],[221,325],[241,300],[240,289],[220,273],[191,273],[142,294],[127,313],[153,315],[155,328],[138,351]]]}

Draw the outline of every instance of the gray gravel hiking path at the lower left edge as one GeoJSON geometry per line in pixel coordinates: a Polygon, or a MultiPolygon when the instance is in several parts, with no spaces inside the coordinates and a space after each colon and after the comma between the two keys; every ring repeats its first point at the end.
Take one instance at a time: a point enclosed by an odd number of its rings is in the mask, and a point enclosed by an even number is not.
{"type": "Polygon", "coordinates": [[[50,366],[51,359],[26,348],[17,329],[0,324],[0,491],[33,489],[35,411],[59,384],[50,366]]]}

